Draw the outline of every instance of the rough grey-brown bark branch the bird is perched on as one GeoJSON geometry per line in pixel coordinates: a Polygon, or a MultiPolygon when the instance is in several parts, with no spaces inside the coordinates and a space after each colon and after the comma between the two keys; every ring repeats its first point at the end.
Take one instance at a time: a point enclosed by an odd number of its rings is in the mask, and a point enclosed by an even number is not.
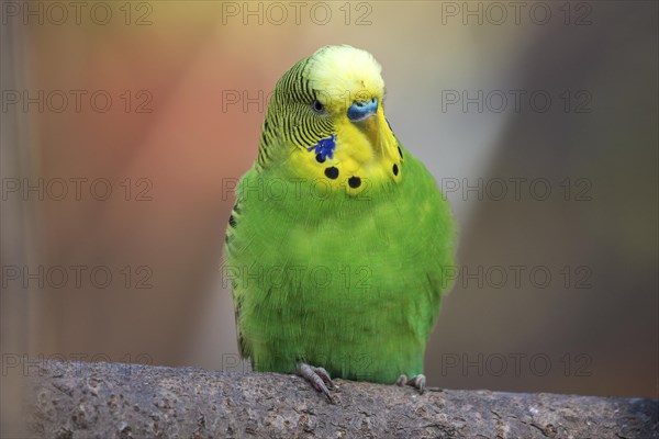
{"type": "Polygon", "coordinates": [[[335,386],[332,405],[293,375],[49,361],[27,418],[47,438],[658,437],[656,399],[335,386]]]}

